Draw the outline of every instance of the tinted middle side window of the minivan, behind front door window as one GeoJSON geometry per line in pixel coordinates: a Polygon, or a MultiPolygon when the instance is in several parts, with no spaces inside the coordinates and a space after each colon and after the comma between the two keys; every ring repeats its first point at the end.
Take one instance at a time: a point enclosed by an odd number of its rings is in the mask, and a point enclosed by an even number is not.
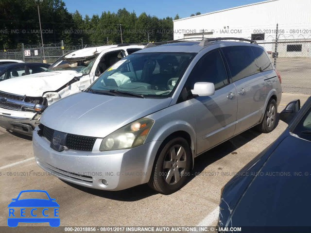
{"type": "Polygon", "coordinates": [[[251,46],[229,46],[222,48],[233,82],[259,73],[251,46]]]}

